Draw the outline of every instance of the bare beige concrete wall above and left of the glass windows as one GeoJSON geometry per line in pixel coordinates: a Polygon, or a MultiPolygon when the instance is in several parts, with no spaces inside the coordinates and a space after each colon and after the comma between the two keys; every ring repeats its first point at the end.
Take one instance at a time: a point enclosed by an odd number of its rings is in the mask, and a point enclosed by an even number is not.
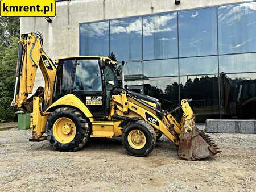
{"type": "Polygon", "coordinates": [[[21,33],[39,31],[44,50],[52,59],[79,55],[79,23],[147,15],[167,11],[209,7],[241,0],[71,0],[59,1],[52,23],[44,18],[21,18],[21,33]]]}

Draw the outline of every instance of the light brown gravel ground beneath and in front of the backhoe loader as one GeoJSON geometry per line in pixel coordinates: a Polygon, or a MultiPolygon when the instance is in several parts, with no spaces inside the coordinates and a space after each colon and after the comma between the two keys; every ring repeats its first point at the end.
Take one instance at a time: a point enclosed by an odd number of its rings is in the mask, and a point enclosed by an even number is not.
{"type": "Polygon", "coordinates": [[[31,132],[0,132],[0,191],[255,191],[256,135],[210,134],[222,152],[185,161],[166,137],[148,157],[118,139],[92,139],[79,152],[31,143],[31,132]]]}

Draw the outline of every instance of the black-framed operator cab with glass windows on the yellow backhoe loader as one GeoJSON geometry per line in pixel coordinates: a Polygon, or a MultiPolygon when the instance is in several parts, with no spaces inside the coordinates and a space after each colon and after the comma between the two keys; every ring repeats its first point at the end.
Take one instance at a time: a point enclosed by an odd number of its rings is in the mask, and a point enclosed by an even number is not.
{"type": "Polygon", "coordinates": [[[108,57],[89,56],[62,58],[56,63],[53,102],[72,93],[93,116],[105,118],[110,111],[110,90],[118,86],[114,71],[117,63],[108,57]]]}

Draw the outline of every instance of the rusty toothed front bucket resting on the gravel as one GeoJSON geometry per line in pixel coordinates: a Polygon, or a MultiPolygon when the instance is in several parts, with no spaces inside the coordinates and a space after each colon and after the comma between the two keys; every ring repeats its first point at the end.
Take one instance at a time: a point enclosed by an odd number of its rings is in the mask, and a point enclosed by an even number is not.
{"type": "Polygon", "coordinates": [[[200,131],[194,119],[185,121],[180,136],[178,155],[185,160],[200,160],[220,153],[209,135],[200,131]]]}

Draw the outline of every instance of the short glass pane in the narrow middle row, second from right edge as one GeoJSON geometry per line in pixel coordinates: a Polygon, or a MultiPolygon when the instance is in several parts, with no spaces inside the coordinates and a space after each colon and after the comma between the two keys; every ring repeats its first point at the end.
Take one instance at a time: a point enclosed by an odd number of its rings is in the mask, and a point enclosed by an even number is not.
{"type": "Polygon", "coordinates": [[[218,73],[218,57],[189,57],[180,59],[180,75],[218,73]]]}

